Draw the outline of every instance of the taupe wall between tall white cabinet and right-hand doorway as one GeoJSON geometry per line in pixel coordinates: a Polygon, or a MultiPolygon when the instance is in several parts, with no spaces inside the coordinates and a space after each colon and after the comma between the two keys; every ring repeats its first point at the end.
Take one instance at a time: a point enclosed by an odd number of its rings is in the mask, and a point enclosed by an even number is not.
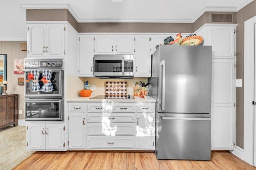
{"type": "MultiPolygon", "coordinates": [[[[244,84],[244,21],[256,16],[256,1],[236,13],[236,79],[244,84]]],[[[244,87],[236,88],[236,145],[244,148],[244,87]]]]}

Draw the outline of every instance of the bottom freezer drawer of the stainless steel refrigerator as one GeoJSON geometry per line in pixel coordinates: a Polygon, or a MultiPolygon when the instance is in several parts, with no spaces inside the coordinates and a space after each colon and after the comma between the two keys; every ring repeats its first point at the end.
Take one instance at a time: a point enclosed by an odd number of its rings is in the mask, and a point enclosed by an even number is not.
{"type": "Polygon", "coordinates": [[[211,115],[157,113],[158,159],[210,160],[211,115]]]}

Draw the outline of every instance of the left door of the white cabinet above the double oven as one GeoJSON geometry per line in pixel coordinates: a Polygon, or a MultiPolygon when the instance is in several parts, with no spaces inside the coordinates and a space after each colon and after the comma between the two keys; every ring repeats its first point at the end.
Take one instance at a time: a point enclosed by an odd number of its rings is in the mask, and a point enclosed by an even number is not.
{"type": "Polygon", "coordinates": [[[28,24],[28,55],[27,57],[46,56],[46,24],[28,24]]]}

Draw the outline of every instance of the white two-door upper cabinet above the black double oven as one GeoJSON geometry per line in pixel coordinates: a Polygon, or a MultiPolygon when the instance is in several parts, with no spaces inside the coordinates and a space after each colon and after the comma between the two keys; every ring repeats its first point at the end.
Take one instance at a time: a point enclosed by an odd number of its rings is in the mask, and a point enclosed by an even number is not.
{"type": "Polygon", "coordinates": [[[29,23],[27,57],[64,57],[64,23],[29,23]]]}

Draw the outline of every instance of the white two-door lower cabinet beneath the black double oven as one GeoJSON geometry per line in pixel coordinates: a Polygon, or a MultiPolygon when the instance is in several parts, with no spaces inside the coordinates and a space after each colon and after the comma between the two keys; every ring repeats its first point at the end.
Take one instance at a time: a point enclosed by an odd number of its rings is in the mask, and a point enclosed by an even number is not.
{"type": "Polygon", "coordinates": [[[27,150],[64,150],[63,123],[28,123],[27,150]]]}

